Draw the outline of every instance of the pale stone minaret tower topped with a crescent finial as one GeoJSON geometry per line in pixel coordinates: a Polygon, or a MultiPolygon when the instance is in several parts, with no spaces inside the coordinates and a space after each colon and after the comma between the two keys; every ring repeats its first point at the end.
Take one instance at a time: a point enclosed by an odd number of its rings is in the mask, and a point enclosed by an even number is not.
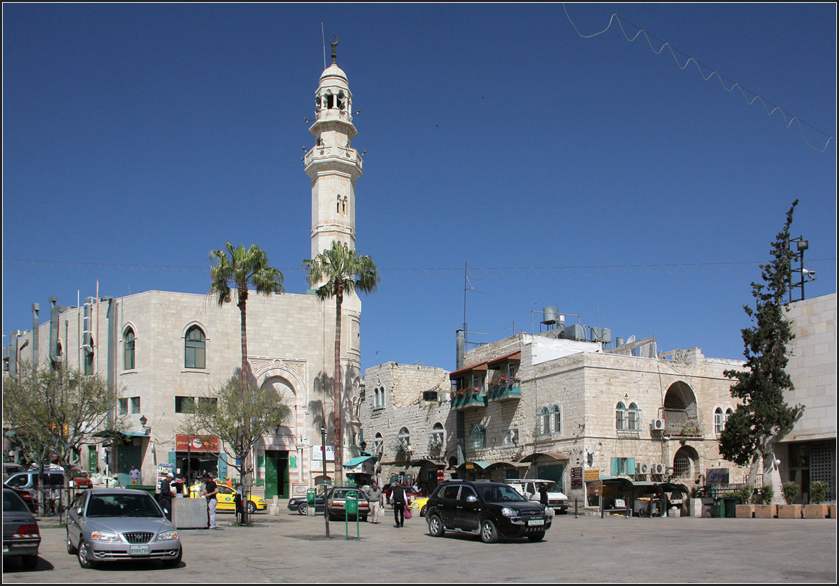
{"type": "Polygon", "coordinates": [[[312,247],[315,258],[332,241],[356,247],[356,179],[362,174],[362,158],[352,148],[356,127],[352,125],[352,93],[347,74],[332,65],[320,75],[315,92],[315,123],[309,132],[315,147],[305,154],[305,171],[312,182],[312,247]]]}

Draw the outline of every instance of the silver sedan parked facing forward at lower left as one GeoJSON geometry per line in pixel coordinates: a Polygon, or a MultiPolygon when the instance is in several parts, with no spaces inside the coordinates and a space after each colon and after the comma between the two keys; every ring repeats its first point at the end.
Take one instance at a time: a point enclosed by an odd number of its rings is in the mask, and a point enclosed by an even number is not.
{"type": "Polygon", "coordinates": [[[76,496],[67,515],[67,553],[82,568],[119,560],[177,566],[183,547],[172,521],[144,490],[92,489],[76,496]]]}

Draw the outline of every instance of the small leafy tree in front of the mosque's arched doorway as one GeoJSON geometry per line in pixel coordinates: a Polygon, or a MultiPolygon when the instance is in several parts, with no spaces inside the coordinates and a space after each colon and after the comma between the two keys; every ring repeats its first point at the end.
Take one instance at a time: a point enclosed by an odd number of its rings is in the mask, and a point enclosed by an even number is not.
{"type": "MultiPolygon", "coordinates": [[[[207,397],[199,397],[195,408],[186,414],[181,430],[190,435],[217,436],[230,456],[228,461],[238,463],[231,465],[244,479],[253,446],[264,433],[282,425],[290,412],[274,387],[257,386],[251,379],[242,381],[234,375],[207,397]]],[[[245,524],[249,524],[247,506],[245,524]]]]}

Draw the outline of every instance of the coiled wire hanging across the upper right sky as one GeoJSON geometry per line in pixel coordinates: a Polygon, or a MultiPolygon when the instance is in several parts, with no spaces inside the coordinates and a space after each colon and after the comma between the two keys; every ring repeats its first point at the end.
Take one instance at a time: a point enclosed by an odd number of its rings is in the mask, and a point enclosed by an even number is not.
{"type": "MultiPolygon", "coordinates": [[[[600,6],[600,4],[598,4],[597,6],[600,6]]],[[[803,120],[801,120],[797,116],[793,116],[788,111],[785,111],[784,108],[782,108],[781,106],[776,106],[771,101],[764,100],[763,97],[760,96],[757,92],[749,90],[748,88],[746,88],[746,87],[742,86],[741,84],[737,83],[737,81],[731,80],[724,75],[720,75],[720,73],[718,73],[717,70],[711,68],[711,66],[705,65],[704,63],[700,63],[698,60],[694,59],[689,54],[686,54],[685,52],[680,51],[679,49],[675,49],[673,47],[673,45],[671,45],[670,43],[667,43],[666,41],[663,41],[662,39],[659,39],[658,37],[656,37],[653,34],[649,34],[646,30],[642,29],[637,24],[633,24],[633,23],[629,22],[626,18],[622,18],[622,17],[618,16],[618,13],[612,13],[612,16],[609,18],[609,23],[607,24],[606,29],[598,31],[597,33],[582,34],[580,32],[580,29],[577,28],[574,21],[571,20],[571,15],[568,13],[568,8],[565,7],[565,3],[562,3],[562,8],[563,8],[563,10],[565,10],[565,17],[568,18],[568,22],[571,23],[571,26],[574,27],[574,30],[576,31],[576,34],[578,34],[582,39],[591,39],[592,37],[596,37],[599,34],[603,34],[603,33],[607,32],[608,29],[612,28],[612,21],[618,23],[618,27],[620,27],[621,32],[623,33],[623,38],[627,39],[630,43],[633,43],[635,41],[635,39],[638,39],[638,36],[640,34],[644,33],[644,38],[647,39],[647,44],[649,44],[649,48],[652,49],[655,54],[661,54],[662,51],[664,51],[664,47],[667,47],[667,49],[670,49],[670,54],[673,56],[673,59],[675,60],[676,65],[679,65],[680,70],[684,71],[685,68],[688,65],[690,65],[690,61],[693,61],[694,65],[696,65],[696,69],[699,70],[699,74],[702,76],[703,80],[705,80],[705,81],[710,80],[712,76],[717,75],[717,79],[720,80],[720,85],[722,86],[722,89],[725,90],[725,91],[733,91],[734,88],[736,87],[737,90],[739,90],[740,93],[743,95],[743,100],[746,101],[747,106],[751,106],[756,100],[760,100],[760,103],[763,104],[763,109],[766,111],[766,113],[769,116],[772,116],[775,113],[775,111],[779,111],[781,113],[781,117],[784,118],[784,126],[786,126],[787,128],[792,126],[793,122],[798,124],[798,129],[799,129],[799,132],[801,133],[801,138],[804,140],[805,144],[808,147],[812,148],[814,151],[817,151],[819,153],[824,153],[827,150],[827,147],[831,143],[831,141],[833,141],[833,143],[836,143],[836,137],[832,136],[831,134],[828,134],[827,132],[819,130],[818,128],[812,126],[811,124],[808,124],[807,122],[804,122],[803,120]],[[621,22],[622,20],[623,20],[623,22],[631,24],[633,27],[638,29],[638,33],[636,33],[635,36],[633,36],[631,39],[629,38],[626,30],[623,29],[623,23],[621,22]],[[661,48],[656,50],[655,47],[653,46],[652,42],[650,41],[650,39],[655,39],[656,41],[661,43],[661,48]],[[682,65],[679,62],[679,58],[676,57],[676,54],[675,54],[676,51],[678,51],[680,54],[683,54],[685,57],[687,57],[687,60],[685,60],[685,65],[682,65]],[[711,70],[711,73],[706,76],[705,73],[702,71],[702,67],[705,67],[706,70],[711,70]],[[726,87],[725,81],[723,81],[723,80],[728,81],[731,84],[731,87],[726,87]],[[749,101],[749,98],[746,95],[746,92],[748,92],[749,94],[754,96],[751,101],[749,101]],[[772,106],[772,110],[769,110],[769,106],[772,106]],[[789,117],[789,120],[787,119],[787,117],[789,117]],[[802,125],[805,126],[805,127],[809,127],[812,130],[814,130],[814,131],[820,133],[821,135],[825,136],[826,137],[825,146],[823,148],[818,148],[818,147],[814,147],[812,144],[810,144],[810,141],[808,141],[807,137],[805,137],[804,128],[802,127],[802,125]]],[[[606,12],[609,12],[607,10],[607,8],[605,8],[605,7],[600,6],[600,8],[602,8],[603,10],[606,10],[606,12]]]]}

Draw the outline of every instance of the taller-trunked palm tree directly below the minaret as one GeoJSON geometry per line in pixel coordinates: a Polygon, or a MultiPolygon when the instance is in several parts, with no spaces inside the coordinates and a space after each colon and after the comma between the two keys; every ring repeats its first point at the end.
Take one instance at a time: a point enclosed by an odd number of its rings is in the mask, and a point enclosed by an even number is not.
{"type": "MultiPolygon", "coordinates": [[[[309,271],[309,283],[321,300],[335,298],[335,376],[333,389],[333,417],[335,425],[335,469],[341,474],[341,305],[344,295],[353,291],[373,293],[379,277],[370,257],[362,257],[346,243],[332,241],[332,247],[315,258],[303,261],[309,271]]],[[[326,470],[324,470],[326,475],[326,470]]]]}

